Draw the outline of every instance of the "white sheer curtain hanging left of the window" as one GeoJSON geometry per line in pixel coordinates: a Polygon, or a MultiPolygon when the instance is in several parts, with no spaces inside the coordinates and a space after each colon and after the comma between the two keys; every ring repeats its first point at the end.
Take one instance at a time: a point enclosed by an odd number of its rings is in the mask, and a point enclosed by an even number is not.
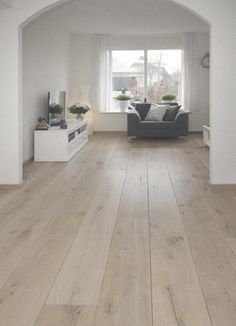
{"type": "Polygon", "coordinates": [[[96,111],[109,111],[112,88],[111,36],[93,37],[91,103],[96,111]]]}

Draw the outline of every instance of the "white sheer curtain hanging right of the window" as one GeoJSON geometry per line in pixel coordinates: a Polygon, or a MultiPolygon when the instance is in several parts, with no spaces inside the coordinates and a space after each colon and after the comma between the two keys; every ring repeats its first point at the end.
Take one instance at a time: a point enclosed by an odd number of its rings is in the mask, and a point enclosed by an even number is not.
{"type": "Polygon", "coordinates": [[[183,108],[188,111],[198,110],[199,75],[197,67],[196,34],[182,35],[183,50],[183,108]]]}

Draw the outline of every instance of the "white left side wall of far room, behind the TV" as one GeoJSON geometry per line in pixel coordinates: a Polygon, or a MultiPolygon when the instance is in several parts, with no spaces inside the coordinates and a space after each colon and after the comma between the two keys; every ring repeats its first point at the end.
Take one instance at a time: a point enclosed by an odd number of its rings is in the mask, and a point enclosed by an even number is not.
{"type": "Polygon", "coordinates": [[[37,118],[47,118],[47,93],[68,93],[70,35],[44,16],[23,30],[23,161],[33,157],[37,118]]]}

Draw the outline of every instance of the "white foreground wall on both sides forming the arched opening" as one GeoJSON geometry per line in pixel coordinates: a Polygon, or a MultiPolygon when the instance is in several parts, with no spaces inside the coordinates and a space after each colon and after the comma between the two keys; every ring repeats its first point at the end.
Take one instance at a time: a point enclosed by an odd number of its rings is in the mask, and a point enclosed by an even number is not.
{"type": "MultiPolygon", "coordinates": [[[[11,140],[6,143],[2,140],[1,150],[5,152],[3,158],[2,171],[0,173],[0,183],[3,184],[17,184],[22,182],[22,135],[21,135],[21,29],[22,26],[35,15],[40,14],[42,11],[47,10],[52,6],[58,6],[62,2],[61,0],[53,1],[37,1],[37,3],[30,3],[30,1],[24,1],[16,3],[15,7],[6,10],[1,13],[1,29],[3,48],[2,66],[3,76],[3,97],[1,99],[2,107],[14,107],[14,117],[10,114],[5,114],[5,123],[12,122],[12,134],[11,140]],[[22,8],[24,10],[22,10],[22,8]],[[6,32],[7,31],[7,32],[6,32]],[[10,67],[10,71],[7,71],[6,67],[10,67]],[[5,75],[4,75],[5,74],[5,75]],[[14,96],[9,101],[7,96],[9,88],[13,89],[14,96]],[[14,128],[14,129],[13,129],[14,128]]],[[[221,22],[220,17],[222,8],[220,5],[215,6],[214,12],[210,10],[209,4],[211,0],[199,1],[198,3],[191,0],[175,0],[171,1],[191,11],[192,13],[199,15],[211,24],[211,53],[212,53],[212,74],[211,74],[211,108],[214,107],[214,112],[211,109],[211,126],[212,126],[212,144],[211,144],[211,176],[212,183],[236,183],[236,174],[232,169],[236,164],[236,149],[232,144],[232,136],[234,134],[234,128],[230,122],[232,117],[227,117],[222,112],[222,106],[230,106],[230,99],[223,99],[220,94],[226,91],[234,90],[235,81],[227,84],[227,80],[231,79],[234,75],[235,69],[234,57],[230,53],[235,53],[236,45],[232,42],[234,33],[232,25],[234,24],[233,10],[235,4],[228,1],[228,7],[225,11],[225,17],[227,16],[227,23],[221,22]],[[222,47],[227,49],[228,64],[225,66],[222,63],[222,47]],[[232,63],[232,65],[230,65],[232,63]],[[220,68],[220,69],[219,69],[220,68]],[[222,71],[224,70],[224,71],[222,71]],[[222,72],[224,74],[222,75],[222,72]],[[219,110],[217,110],[219,108],[219,110]],[[222,119],[223,118],[223,119],[222,119]],[[226,138],[222,138],[221,134],[227,128],[228,134],[226,138]],[[227,146],[225,146],[227,144],[227,146]]],[[[225,6],[224,6],[225,8],[225,6]]],[[[235,113],[233,113],[235,115],[235,113]]],[[[2,132],[2,139],[7,135],[7,128],[2,132]]]]}

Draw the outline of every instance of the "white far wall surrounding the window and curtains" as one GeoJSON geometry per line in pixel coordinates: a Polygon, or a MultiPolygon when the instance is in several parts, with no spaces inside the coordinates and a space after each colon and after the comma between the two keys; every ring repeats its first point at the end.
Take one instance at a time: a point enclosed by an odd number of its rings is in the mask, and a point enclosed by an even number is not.
{"type": "MultiPolygon", "coordinates": [[[[72,75],[71,95],[73,101],[81,97],[81,87],[91,84],[92,71],[92,35],[75,35],[72,37],[72,75]]],[[[163,48],[181,47],[181,36],[115,36],[112,40],[113,49],[163,48]]],[[[201,57],[209,52],[209,33],[196,33],[197,66],[196,76],[197,109],[190,114],[190,131],[202,131],[203,124],[209,123],[209,69],[200,65],[201,57]]],[[[124,113],[94,114],[94,131],[126,131],[127,122],[124,113]]]]}

